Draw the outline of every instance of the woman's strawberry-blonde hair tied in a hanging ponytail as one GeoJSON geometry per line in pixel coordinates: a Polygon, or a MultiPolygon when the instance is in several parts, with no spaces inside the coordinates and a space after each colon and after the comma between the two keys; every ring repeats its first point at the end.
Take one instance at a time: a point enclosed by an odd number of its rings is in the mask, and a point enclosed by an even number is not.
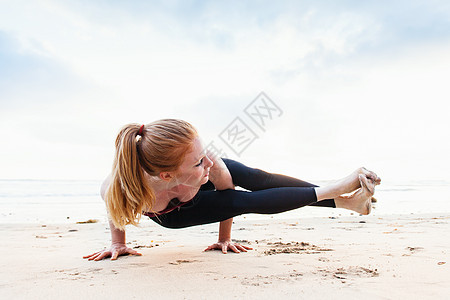
{"type": "Polygon", "coordinates": [[[179,119],[161,119],[144,125],[127,124],[116,138],[111,182],[105,201],[114,226],[137,226],[143,209],[154,212],[155,194],[145,173],[176,172],[191,151],[197,130],[179,119]]]}

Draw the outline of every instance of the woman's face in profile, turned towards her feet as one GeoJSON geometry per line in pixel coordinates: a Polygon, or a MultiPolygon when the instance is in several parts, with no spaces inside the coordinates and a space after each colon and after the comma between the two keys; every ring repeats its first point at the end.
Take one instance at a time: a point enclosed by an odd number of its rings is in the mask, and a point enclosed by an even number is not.
{"type": "Polygon", "coordinates": [[[177,184],[200,187],[208,182],[209,169],[213,162],[206,156],[206,149],[200,137],[194,140],[192,151],[184,157],[184,162],[178,169],[175,180],[177,184]]]}

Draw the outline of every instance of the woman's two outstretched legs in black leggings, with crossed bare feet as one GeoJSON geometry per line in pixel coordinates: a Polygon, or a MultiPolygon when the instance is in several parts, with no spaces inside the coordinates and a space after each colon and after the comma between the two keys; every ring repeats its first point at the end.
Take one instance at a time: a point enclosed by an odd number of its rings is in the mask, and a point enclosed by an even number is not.
{"type": "Polygon", "coordinates": [[[360,182],[364,182],[365,188],[358,189],[348,201],[342,202],[340,200],[336,204],[339,204],[338,207],[351,209],[362,214],[370,212],[370,198],[371,193],[373,193],[374,182],[368,182],[367,177],[362,174],[367,170],[363,170],[363,168],[326,187],[314,185],[273,187],[274,185],[284,184],[311,184],[292,177],[248,168],[235,161],[227,160],[227,163],[233,181],[236,180],[236,185],[253,191],[232,189],[214,191],[211,190],[213,185],[205,184],[188,204],[159,217],[151,217],[151,219],[168,228],[183,228],[220,222],[245,213],[275,214],[313,203],[338,199],[340,198],[339,195],[359,188],[360,182]],[[255,177],[252,176],[257,176],[259,181],[255,182],[255,177]],[[330,197],[330,199],[327,199],[327,197],[330,197]]]}

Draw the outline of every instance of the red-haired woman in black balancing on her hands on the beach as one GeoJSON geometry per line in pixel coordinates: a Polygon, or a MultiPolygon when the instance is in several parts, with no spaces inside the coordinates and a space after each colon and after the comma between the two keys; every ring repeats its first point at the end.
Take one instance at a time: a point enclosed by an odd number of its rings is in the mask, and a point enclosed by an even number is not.
{"type": "Polygon", "coordinates": [[[233,217],[273,214],[306,205],[369,214],[380,178],[365,168],[326,187],[214,157],[188,122],[162,119],[128,124],[116,139],[113,170],[101,188],[111,228],[110,249],[84,256],[101,260],[141,255],[128,248],[125,226],[142,215],[167,228],[220,222],[218,242],[205,250],[252,249],[231,242],[233,217]],[[234,190],[235,185],[249,191],[234,190]],[[352,193],[349,195],[349,193],[352,193]],[[345,194],[345,195],[344,195],[345,194]]]}

